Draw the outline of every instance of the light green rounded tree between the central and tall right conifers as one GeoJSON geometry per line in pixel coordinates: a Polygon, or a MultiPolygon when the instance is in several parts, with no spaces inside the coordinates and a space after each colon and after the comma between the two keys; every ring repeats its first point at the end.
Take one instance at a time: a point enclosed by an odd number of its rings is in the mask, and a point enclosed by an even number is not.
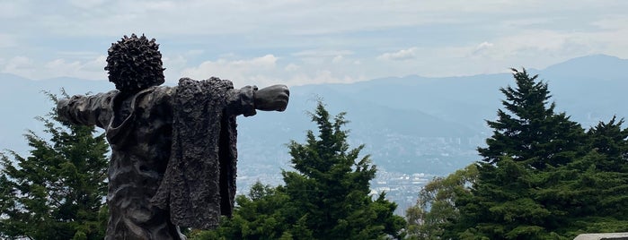
{"type": "Polygon", "coordinates": [[[472,164],[425,184],[417,203],[406,210],[408,239],[443,239],[451,220],[460,216],[455,204],[457,197],[468,194],[477,177],[477,167],[472,164]]]}

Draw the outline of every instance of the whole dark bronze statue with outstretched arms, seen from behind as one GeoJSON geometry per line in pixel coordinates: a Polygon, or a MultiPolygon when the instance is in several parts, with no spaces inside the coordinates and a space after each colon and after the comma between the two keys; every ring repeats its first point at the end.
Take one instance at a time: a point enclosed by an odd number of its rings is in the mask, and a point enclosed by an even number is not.
{"type": "Polygon", "coordinates": [[[116,90],[57,103],[62,120],[95,124],[111,144],[105,239],[185,239],[179,226],[217,227],[234,207],[235,116],[285,110],[287,87],[235,90],[218,78],[159,86],[159,45],[135,34],[108,55],[116,90]]]}

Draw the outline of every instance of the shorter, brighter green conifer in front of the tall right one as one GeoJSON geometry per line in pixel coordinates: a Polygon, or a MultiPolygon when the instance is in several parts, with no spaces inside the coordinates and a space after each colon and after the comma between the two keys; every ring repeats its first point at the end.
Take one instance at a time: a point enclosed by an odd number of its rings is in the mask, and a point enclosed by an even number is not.
{"type": "Polygon", "coordinates": [[[495,165],[478,166],[470,194],[456,199],[460,218],[452,238],[544,239],[552,212],[535,200],[535,171],[502,157],[495,165]]]}

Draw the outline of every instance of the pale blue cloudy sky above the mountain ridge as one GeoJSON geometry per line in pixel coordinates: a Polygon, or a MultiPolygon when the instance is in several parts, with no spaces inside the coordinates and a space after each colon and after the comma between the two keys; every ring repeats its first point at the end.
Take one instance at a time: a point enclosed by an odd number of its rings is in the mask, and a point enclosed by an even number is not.
{"type": "Polygon", "coordinates": [[[107,49],[156,39],[166,81],[260,87],[543,69],[628,58],[625,0],[0,0],[0,73],[106,81],[107,49]]]}

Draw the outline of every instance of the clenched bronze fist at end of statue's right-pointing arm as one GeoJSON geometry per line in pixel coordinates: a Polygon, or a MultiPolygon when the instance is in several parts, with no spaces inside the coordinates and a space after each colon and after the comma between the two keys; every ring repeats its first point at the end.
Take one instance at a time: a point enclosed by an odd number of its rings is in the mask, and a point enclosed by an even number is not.
{"type": "Polygon", "coordinates": [[[290,90],[286,85],[273,85],[255,92],[255,109],[283,112],[287,107],[290,90]]]}

